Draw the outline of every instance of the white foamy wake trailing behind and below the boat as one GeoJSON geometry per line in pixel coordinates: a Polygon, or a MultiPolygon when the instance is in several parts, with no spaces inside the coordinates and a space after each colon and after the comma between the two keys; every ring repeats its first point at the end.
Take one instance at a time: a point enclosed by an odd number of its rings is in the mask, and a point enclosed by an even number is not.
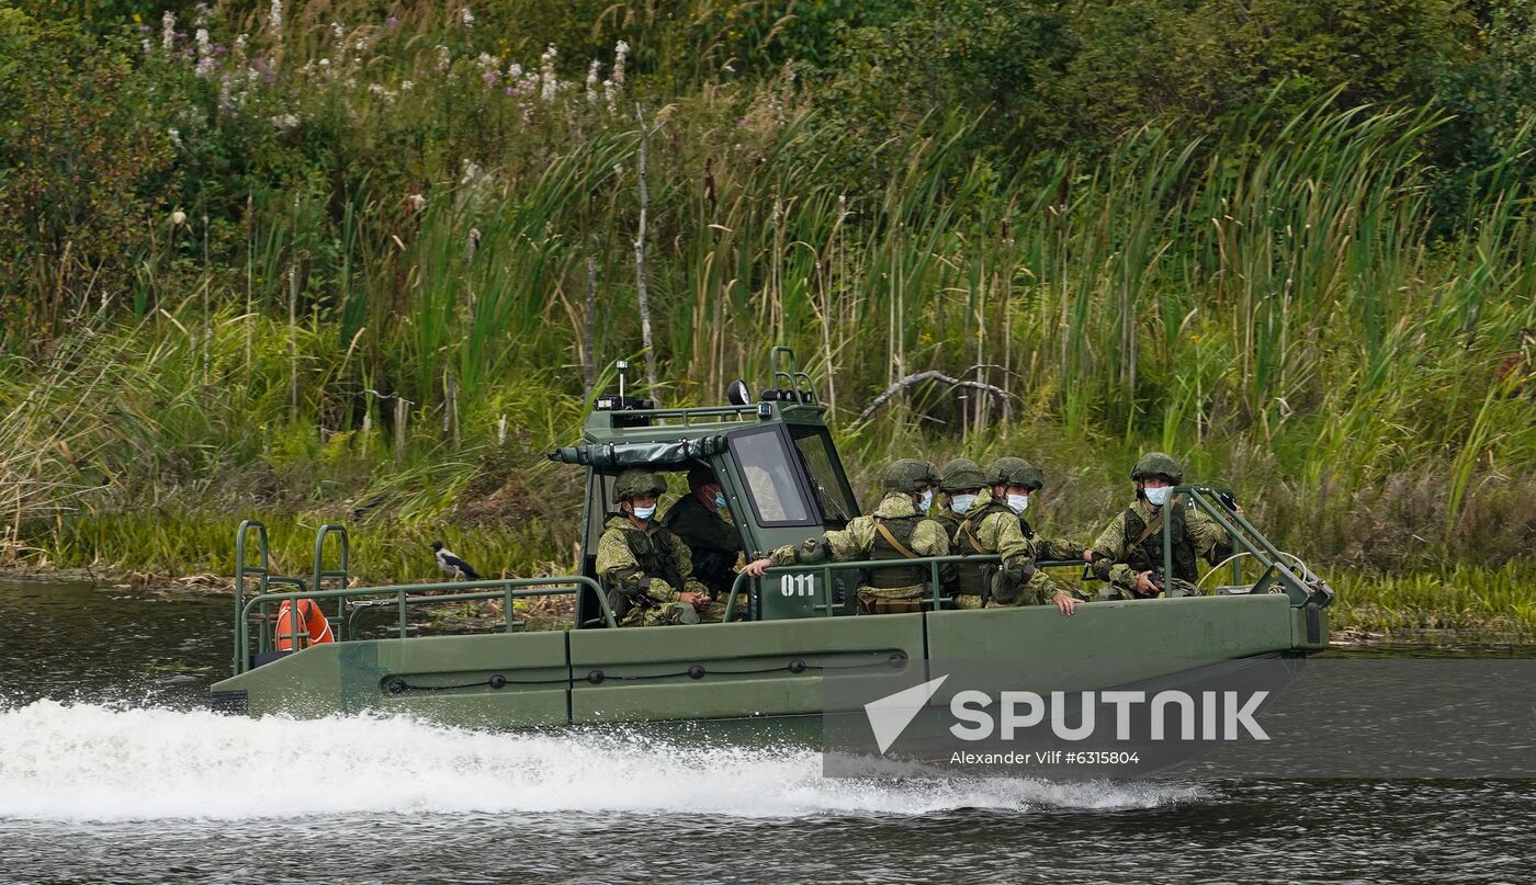
{"type": "Polygon", "coordinates": [[[579,811],[736,817],[1146,808],[1189,787],[822,777],[805,747],[493,733],[402,718],[243,719],[38,701],[0,707],[0,820],[244,820],[579,811]]]}

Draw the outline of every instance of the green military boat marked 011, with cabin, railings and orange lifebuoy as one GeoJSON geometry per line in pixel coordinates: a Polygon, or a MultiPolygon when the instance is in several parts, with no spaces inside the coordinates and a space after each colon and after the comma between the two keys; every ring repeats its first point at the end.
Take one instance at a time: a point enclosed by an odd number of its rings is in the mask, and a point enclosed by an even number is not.
{"type": "MultiPolygon", "coordinates": [[[[722,406],[662,409],[627,395],[622,373],[619,393],[596,398],[581,439],[550,453],[585,472],[581,561],[571,575],[349,587],[344,527],[319,529],[310,575],[283,576],[270,568],[266,529],[243,522],[233,673],[214,685],[214,710],[409,714],[492,728],[644,722],[809,734],[833,713],[823,684],[834,675],[919,678],[938,661],[1028,658],[1052,662],[1035,681],[1104,688],[1327,647],[1327,584],[1281,555],[1221,490],[1193,484],[1178,486],[1170,505],[1200,509],[1226,527],[1256,579],[1243,581],[1235,564],[1230,582],[1213,595],[1089,602],[1071,618],[1052,605],[957,610],[935,579],[920,612],[859,615],[852,588],[860,570],[880,562],[822,562],[737,575],[728,610],[743,615],[728,622],[617,628],[594,561],[604,518],[616,509],[614,481],[627,469],[713,469],[746,552],[802,542],[860,513],[814,380],[788,349],[774,349],[770,366],[765,390],[753,396],[737,381],[722,406]],[[519,599],[556,595],[574,596],[568,628],[530,630],[518,618],[519,599]],[[501,601],[502,618],[484,631],[418,628],[424,608],[487,599],[501,601]],[[284,605],[301,616],[284,619],[284,605]],[[303,616],[306,605],[310,616],[303,616]],[[318,612],[335,641],[313,642],[318,612]]],[[[1172,575],[1167,530],[1163,541],[1172,575]]],[[[937,578],[942,565],[958,561],[900,565],[937,578]]],[[[1083,572],[1081,561],[1040,565],[1083,572]]],[[[932,698],[945,701],[943,691],[932,698]]]]}

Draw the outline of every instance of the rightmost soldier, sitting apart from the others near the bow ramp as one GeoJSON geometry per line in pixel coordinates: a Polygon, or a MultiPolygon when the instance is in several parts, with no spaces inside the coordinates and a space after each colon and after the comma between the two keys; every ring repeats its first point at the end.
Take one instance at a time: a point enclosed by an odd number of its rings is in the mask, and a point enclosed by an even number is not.
{"type": "Polygon", "coordinates": [[[1198,593],[1197,556],[1220,562],[1230,553],[1232,538],[1215,519],[1187,507],[1167,507],[1174,486],[1184,481],[1184,470],[1170,455],[1147,452],[1130,469],[1137,499],[1115,516],[1083,552],[1094,573],[1109,584],[1107,599],[1143,599],[1170,585],[1169,596],[1198,593]],[[1174,573],[1163,572],[1163,521],[1172,522],[1174,573]]]}

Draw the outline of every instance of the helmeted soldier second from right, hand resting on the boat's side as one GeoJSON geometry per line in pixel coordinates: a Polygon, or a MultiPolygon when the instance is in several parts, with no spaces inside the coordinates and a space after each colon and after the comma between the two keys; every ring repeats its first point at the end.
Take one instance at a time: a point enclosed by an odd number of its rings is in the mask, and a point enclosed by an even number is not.
{"type": "MultiPolygon", "coordinates": [[[[1021,519],[1029,493],[1044,486],[1044,475],[1023,458],[998,458],[986,469],[986,484],[965,512],[954,547],[962,555],[997,553],[1001,564],[962,562],[955,605],[982,608],[1054,602],[1063,615],[1075,612],[1077,599],[1035,568],[1043,545],[1049,544],[1049,553],[1055,555],[1069,542],[1037,539],[1021,519]]],[[[1077,555],[1074,549],[1072,558],[1077,555]]]]}

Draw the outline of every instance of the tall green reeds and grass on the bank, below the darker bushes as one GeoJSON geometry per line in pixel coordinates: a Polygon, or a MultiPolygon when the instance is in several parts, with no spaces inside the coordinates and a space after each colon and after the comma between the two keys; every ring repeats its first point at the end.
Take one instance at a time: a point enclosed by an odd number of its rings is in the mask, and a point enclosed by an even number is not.
{"type": "MultiPolygon", "coordinates": [[[[3,333],[0,522],[17,550],[223,568],[233,522],[258,513],[296,535],[359,522],[379,539],[366,568],[389,578],[418,575],[418,535],[458,544],[458,525],[508,567],[565,561],[574,479],[539,455],[576,433],[584,361],[653,361],[662,403],[713,403],[736,376],[766,381],[768,349],[790,344],[857,479],[892,453],[1023,453],[1048,467],[1061,529],[1086,535],[1155,446],[1236,482],[1324,562],[1528,555],[1530,383],[1501,386],[1496,366],[1536,326],[1530,192],[1495,164],[1491,197],[1433,217],[1418,149],[1453,120],[1335,92],[1200,137],[1154,121],[1087,158],[989,157],[985,117],[934,114],[843,180],[829,158],[846,166],[848,132],[788,77],[667,101],[621,89],[613,111],[581,83],[544,101],[488,85],[452,18],[409,18],[349,25],[367,38],[356,61],[315,11],[281,46],[258,29],[249,55],[273,81],[240,80],[235,109],[181,134],[247,128],[280,154],[343,144],[376,167],[204,191],[235,227],[210,234],[190,204],[184,226],[155,220],[135,273],[63,298],[69,323],[23,307],[3,333]],[[306,69],[323,57],[344,69],[306,69]],[[657,126],[651,353],[636,100],[657,126]],[[273,132],[289,114],[298,128],[273,132]],[[925,386],[852,423],[925,369],[1011,396],[925,386]]],[[[495,71],[536,71],[539,49],[495,71]]]]}

